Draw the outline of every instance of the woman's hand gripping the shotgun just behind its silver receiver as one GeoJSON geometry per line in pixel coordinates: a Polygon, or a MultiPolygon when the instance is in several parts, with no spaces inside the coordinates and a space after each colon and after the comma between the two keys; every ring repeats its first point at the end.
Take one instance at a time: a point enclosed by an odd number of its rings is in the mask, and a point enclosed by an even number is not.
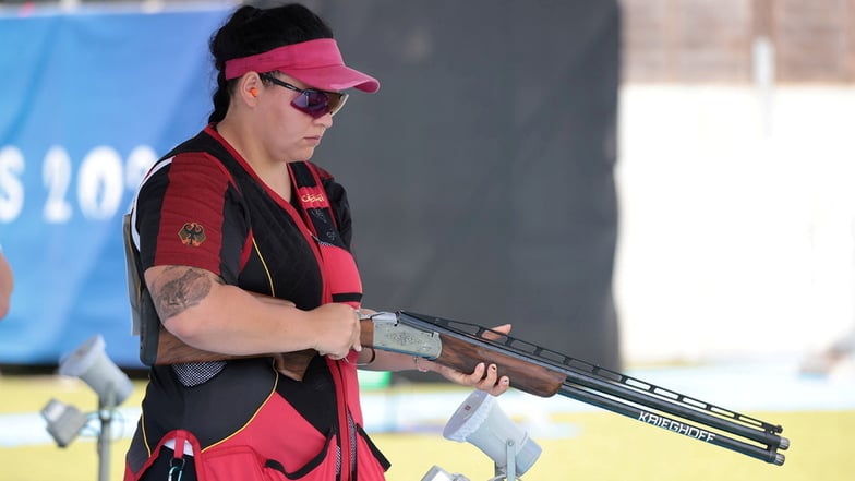
{"type": "Polygon", "coordinates": [[[359,311],[348,304],[329,303],[310,311],[312,327],[317,329],[317,341],[314,349],[321,356],[339,360],[346,358],[350,350],[362,350],[359,340],[359,311]]]}

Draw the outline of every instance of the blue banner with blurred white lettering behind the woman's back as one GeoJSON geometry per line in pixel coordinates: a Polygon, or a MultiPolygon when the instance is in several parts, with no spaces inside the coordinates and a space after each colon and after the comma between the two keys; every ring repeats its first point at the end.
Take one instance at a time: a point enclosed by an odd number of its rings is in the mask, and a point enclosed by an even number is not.
{"type": "Polygon", "coordinates": [[[140,366],[121,216],[147,167],[210,111],[228,14],[0,16],[0,245],[15,273],[0,364],[56,364],[95,334],[140,366]]]}

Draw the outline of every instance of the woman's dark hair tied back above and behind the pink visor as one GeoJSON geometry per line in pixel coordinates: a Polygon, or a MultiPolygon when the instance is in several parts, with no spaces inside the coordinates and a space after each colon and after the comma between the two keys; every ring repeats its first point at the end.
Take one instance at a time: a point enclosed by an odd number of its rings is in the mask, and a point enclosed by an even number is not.
{"type": "Polygon", "coordinates": [[[217,69],[214,111],[208,122],[219,122],[229,109],[233,82],[226,81],[227,60],[318,38],[333,38],[333,31],[320,16],[301,4],[290,3],[269,9],[252,5],[238,8],[208,43],[214,68],[217,69]]]}

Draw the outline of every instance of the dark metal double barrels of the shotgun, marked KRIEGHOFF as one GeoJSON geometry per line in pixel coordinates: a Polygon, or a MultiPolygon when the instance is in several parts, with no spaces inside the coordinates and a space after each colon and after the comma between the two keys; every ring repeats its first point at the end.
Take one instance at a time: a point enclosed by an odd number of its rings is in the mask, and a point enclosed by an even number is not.
{"type": "Polygon", "coordinates": [[[559,394],[772,465],[784,464],[785,457],[779,450],[786,450],[790,447],[790,440],[780,435],[783,432],[781,425],[475,324],[405,311],[399,311],[397,318],[401,324],[439,334],[443,339],[443,353],[435,359],[439,364],[451,360],[451,368],[469,372],[478,362],[494,362],[498,365],[499,375],[510,375],[511,384],[520,390],[542,397],[559,394]],[[449,349],[458,349],[462,345],[470,351],[473,346],[477,347],[478,356],[467,362],[459,361],[457,359],[459,356],[455,357],[446,352],[449,349]],[[507,359],[513,359],[515,365],[508,368],[507,359]],[[558,374],[562,378],[561,385],[554,393],[552,388],[546,392],[530,388],[526,384],[526,375],[520,376],[518,372],[518,362],[535,368],[533,371],[537,373],[535,377],[542,376],[540,374],[542,370],[558,374]]]}

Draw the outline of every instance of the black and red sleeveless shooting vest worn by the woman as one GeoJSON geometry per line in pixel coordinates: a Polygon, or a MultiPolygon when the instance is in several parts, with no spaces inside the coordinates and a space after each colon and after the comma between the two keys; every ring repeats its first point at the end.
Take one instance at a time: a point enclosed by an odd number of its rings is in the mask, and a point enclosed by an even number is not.
{"type": "MultiPolygon", "coordinates": [[[[266,188],[210,127],[161,161],[185,153],[221,163],[246,226],[240,269],[224,280],[294,301],[300,309],[328,302],[359,306],[362,286],[349,252],[347,201],[332,176],[311,163],[289,164],[292,205],[266,188]],[[294,292],[301,299],[289,299],[294,292]]],[[[125,480],[139,479],[167,442],[177,458],[183,443],[192,446],[186,450],[201,481],[255,479],[248,477],[255,468],[265,480],[384,479],[389,464],[362,430],[357,357],[315,357],[302,382],[278,374],[269,358],[228,361],[192,387],[176,381],[172,366],[154,366],[125,480]],[[301,444],[301,438],[315,442],[301,444]],[[324,447],[317,453],[301,452],[318,442],[324,447]]]]}

